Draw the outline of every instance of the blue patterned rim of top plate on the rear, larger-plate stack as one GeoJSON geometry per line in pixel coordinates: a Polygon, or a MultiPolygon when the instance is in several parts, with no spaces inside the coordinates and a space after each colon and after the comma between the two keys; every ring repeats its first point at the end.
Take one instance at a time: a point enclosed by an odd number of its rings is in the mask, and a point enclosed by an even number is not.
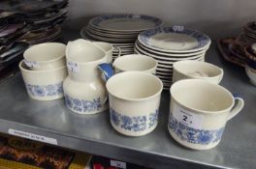
{"type": "Polygon", "coordinates": [[[139,32],[139,31],[144,31],[147,29],[152,29],[152,27],[148,27],[148,28],[142,28],[142,29],[131,29],[131,30],[118,30],[118,29],[109,29],[109,28],[102,28],[100,26],[100,23],[107,21],[107,20],[111,20],[111,19],[116,19],[116,18],[127,18],[127,19],[142,19],[142,20],[146,20],[146,21],[150,21],[154,24],[153,28],[159,27],[163,25],[163,20],[158,18],[158,17],[154,17],[154,16],[150,16],[150,15],[144,15],[144,14],[103,14],[103,15],[99,15],[96,16],[92,19],[90,19],[89,21],[89,25],[93,26],[95,28],[101,29],[101,30],[107,30],[107,31],[115,31],[115,32],[139,32]]]}

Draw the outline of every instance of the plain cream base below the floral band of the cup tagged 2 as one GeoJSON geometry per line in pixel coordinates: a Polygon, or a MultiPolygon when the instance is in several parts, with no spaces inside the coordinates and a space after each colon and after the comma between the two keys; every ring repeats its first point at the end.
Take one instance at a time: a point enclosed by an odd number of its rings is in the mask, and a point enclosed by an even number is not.
{"type": "Polygon", "coordinates": [[[192,143],[188,143],[188,142],[180,140],[180,138],[178,136],[176,136],[176,134],[169,127],[168,127],[168,130],[169,130],[171,136],[176,140],[177,143],[181,144],[182,146],[184,146],[186,148],[190,148],[190,149],[194,149],[194,150],[198,150],[198,151],[212,149],[212,148],[216,147],[220,142],[220,141],[218,141],[216,143],[212,143],[212,144],[208,144],[208,145],[192,144],[192,143]]]}

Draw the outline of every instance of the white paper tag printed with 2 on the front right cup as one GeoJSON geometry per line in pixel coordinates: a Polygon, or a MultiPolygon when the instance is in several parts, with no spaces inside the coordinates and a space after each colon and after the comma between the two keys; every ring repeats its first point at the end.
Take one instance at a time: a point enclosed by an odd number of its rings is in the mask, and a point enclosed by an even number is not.
{"type": "Polygon", "coordinates": [[[203,115],[195,114],[191,111],[181,108],[178,105],[175,105],[174,107],[173,116],[178,122],[184,124],[185,126],[197,129],[201,129],[204,121],[203,115]]]}

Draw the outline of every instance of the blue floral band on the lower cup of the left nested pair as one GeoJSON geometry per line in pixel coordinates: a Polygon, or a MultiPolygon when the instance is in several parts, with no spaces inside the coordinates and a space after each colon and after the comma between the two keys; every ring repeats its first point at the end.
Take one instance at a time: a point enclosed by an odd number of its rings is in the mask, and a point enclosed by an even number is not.
{"type": "Polygon", "coordinates": [[[63,95],[62,82],[49,85],[25,84],[27,92],[33,97],[53,97],[63,95]]]}

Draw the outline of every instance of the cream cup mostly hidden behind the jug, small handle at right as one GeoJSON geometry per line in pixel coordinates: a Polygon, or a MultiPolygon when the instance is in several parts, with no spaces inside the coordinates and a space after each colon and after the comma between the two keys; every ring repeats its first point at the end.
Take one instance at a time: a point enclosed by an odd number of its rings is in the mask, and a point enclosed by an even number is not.
{"type": "Polygon", "coordinates": [[[111,64],[112,63],[112,51],[114,48],[118,51],[118,56],[120,56],[121,51],[119,47],[113,46],[112,43],[109,42],[93,42],[97,46],[101,47],[106,53],[107,53],[107,63],[111,64]]]}

